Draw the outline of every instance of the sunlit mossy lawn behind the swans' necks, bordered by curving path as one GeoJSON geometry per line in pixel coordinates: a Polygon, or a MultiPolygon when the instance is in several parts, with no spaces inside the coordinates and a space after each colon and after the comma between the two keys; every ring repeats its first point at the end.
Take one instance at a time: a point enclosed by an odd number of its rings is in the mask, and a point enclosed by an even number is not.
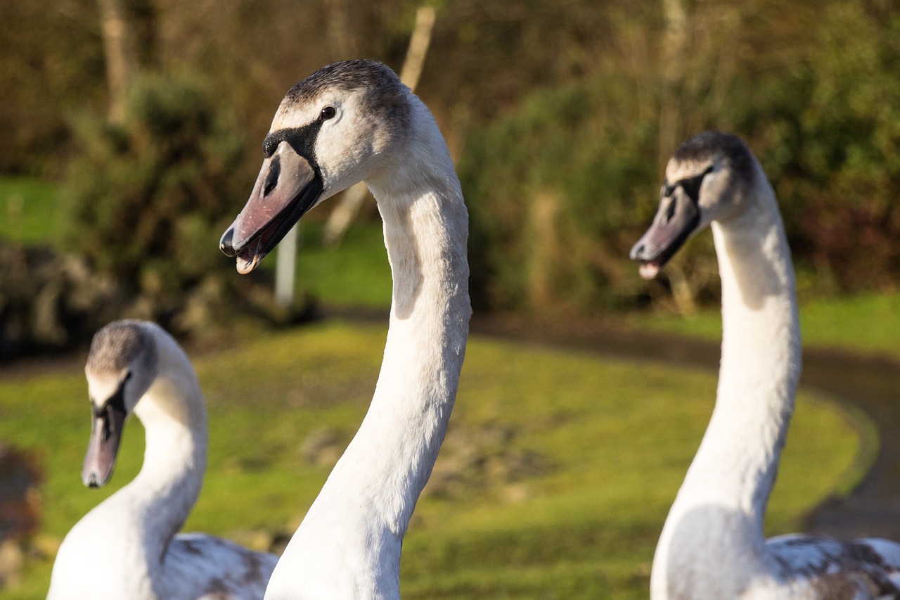
{"type": "MultiPolygon", "coordinates": [[[[323,427],[349,441],[384,334],[324,323],[197,357],[211,448],[186,529],[240,541],[293,532],[329,473],[302,459],[302,442],[323,427]]],[[[141,430],[130,423],[111,486],[81,486],[89,413],[79,370],[0,382],[0,439],[38,451],[46,468],[43,546],[141,460],[141,430]]],[[[645,598],[653,547],[715,388],[704,372],[473,339],[445,448],[404,543],[404,597],[645,598]],[[460,470],[473,449],[483,460],[460,470]],[[509,468],[515,457],[530,457],[527,468],[509,468]],[[454,469],[463,485],[442,486],[440,474],[454,469]]],[[[836,405],[801,394],[769,532],[796,528],[858,477],[848,469],[859,450],[836,405]]],[[[4,597],[43,597],[51,560],[31,559],[4,597]]]]}

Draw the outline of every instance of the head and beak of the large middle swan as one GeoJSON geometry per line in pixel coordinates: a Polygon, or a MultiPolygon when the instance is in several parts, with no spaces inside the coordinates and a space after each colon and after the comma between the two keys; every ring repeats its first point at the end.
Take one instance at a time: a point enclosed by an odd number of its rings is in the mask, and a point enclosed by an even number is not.
{"type": "Polygon", "coordinates": [[[410,132],[410,90],[373,60],[320,68],[293,86],[263,141],[263,167],[220,250],[249,273],[301,216],[385,166],[410,132]]]}

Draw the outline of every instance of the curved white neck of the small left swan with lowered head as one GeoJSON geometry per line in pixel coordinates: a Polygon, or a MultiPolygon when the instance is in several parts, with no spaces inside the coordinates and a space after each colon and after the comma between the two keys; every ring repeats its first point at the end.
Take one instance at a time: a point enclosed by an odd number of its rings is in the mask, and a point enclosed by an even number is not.
{"type": "Polygon", "coordinates": [[[138,477],[109,502],[130,506],[142,525],[147,559],[161,559],[200,495],[208,432],[200,384],[184,351],[157,336],[159,376],[134,413],[146,430],[144,465],[138,477]]]}

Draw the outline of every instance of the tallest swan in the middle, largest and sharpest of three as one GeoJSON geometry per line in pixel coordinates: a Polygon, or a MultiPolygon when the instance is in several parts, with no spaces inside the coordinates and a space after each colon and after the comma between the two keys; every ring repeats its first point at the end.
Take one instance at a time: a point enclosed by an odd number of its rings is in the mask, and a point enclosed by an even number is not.
{"type": "Polygon", "coordinates": [[[338,62],[293,86],[247,205],[220,249],[247,273],[312,206],[364,180],[393,288],[372,404],[266,589],[286,598],[399,598],[403,536],[444,440],[472,309],[468,215],[428,108],[390,68],[338,62]]]}

